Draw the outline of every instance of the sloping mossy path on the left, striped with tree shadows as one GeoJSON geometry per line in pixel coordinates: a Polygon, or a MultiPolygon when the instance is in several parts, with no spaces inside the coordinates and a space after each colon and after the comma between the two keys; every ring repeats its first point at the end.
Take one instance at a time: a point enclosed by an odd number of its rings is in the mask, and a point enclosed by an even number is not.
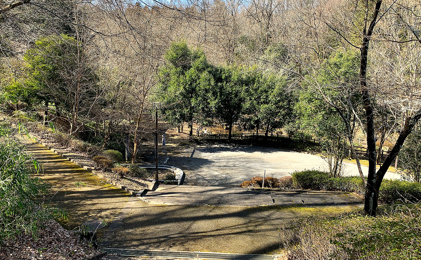
{"type": "Polygon", "coordinates": [[[43,145],[27,139],[22,142],[43,167],[34,177],[40,177],[51,185],[47,200],[66,211],[67,218],[59,220],[65,228],[78,228],[93,219],[109,224],[127,203],[128,193],[107,184],[43,145]]]}

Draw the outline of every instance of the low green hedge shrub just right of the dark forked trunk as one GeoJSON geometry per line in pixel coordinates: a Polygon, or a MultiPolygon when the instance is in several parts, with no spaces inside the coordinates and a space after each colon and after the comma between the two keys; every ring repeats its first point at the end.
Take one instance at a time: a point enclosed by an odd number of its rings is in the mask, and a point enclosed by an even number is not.
{"type": "Polygon", "coordinates": [[[393,203],[397,200],[418,202],[421,200],[421,183],[400,180],[383,180],[378,200],[393,203]]]}

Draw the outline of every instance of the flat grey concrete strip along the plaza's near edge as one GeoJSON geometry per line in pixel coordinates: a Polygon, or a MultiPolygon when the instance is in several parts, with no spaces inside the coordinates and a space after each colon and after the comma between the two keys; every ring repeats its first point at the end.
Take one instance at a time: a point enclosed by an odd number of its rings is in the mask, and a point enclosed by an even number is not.
{"type": "Polygon", "coordinates": [[[351,193],[306,191],[255,191],[246,188],[160,185],[142,197],[150,205],[213,206],[361,206],[362,200],[351,193]]]}

